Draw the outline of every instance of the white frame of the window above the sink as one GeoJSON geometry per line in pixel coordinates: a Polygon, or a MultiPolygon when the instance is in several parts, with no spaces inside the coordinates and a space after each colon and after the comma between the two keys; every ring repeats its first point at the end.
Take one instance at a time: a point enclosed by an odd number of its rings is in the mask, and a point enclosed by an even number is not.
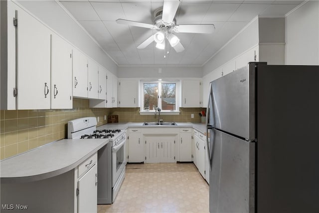
{"type": "Polygon", "coordinates": [[[172,81],[168,81],[168,80],[141,80],[140,81],[140,114],[141,115],[150,115],[150,114],[155,114],[155,110],[154,109],[150,109],[149,111],[146,111],[144,109],[144,84],[149,83],[149,84],[158,84],[159,86],[159,92],[158,92],[158,106],[160,107],[160,114],[161,115],[179,115],[179,105],[180,105],[180,95],[181,95],[181,90],[180,90],[180,81],[179,80],[172,80],[172,81]],[[162,98],[161,98],[161,84],[163,83],[174,83],[176,85],[175,87],[175,110],[171,111],[171,110],[162,110],[161,109],[161,102],[162,102],[162,98]]]}

